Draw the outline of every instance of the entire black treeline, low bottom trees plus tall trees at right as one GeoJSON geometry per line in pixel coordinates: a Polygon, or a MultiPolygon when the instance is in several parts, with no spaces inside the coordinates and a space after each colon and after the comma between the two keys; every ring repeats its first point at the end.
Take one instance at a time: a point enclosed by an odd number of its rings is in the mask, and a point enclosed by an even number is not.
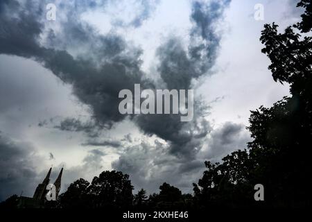
{"type": "MultiPolygon", "coordinates": [[[[205,162],[207,170],[193,195],[164,183],[159,194],[144,189],[132,195],[128,175],[104,171],[91,184],[73,182],[50,207],[309,207],[312,199],[312,1],[298,3],[302,21],[282,33],[266,24],[261,34],[262,52],[276,82],[290,85],[291,96],[271,108],[252,111],[253,141],[221,163],[205,162]],[[264,187],[264,201],[254,200],[254,185],[264,187]]],[[[266,86],[263,86],[266,87],[266,86]]],[[[14,206],[12,196],[2,206],[14,206]]],[[[47,207],[49,207],[47,205],[47,207]]]]}

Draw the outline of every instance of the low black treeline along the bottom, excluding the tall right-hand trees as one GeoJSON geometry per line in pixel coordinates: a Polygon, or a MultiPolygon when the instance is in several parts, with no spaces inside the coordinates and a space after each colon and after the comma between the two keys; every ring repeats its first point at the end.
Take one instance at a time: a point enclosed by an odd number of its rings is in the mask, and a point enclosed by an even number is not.
{"type": "MultiPolygon", "coordinates": [[[[189,208],[193,205],[191,194],[182,194],[177,187],[164,182],[159,187],[159,194],[146,195],[141,189],[133,195],[133,186],[127,174],[120,171],[103,171],[88,182],[83,178],[71,183],[67,191],[60,194],[55,201],[45,201],[44,208],[105,208],[105,209],[156,209],[189,208]]],[[[11,196],[0,207],[16,208],[19,197],[11,196]]]]}

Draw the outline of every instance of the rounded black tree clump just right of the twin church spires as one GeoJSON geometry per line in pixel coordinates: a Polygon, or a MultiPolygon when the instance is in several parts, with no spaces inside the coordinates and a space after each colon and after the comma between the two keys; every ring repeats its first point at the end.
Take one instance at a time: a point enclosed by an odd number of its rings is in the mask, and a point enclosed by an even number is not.
{"type": "Polygon", "coordinates": [[[132,185],[127,174],[103,171],[90,184],[80,179],[60,195],[60,207],[121,208],[132,205],[132,185]]]}

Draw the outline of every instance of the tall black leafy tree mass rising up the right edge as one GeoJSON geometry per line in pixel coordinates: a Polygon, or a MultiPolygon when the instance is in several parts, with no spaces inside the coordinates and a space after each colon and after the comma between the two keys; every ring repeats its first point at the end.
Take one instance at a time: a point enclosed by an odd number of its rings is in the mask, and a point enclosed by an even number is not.
{"type": "Polygon", "coordinates": [[[312,2],[302,22],[278,33],[277,24],[266,24],[261,34],[263,53],[271,61],[272,77],[290,85],[291,97],[284,97],[272,108],[261,106],[250,115],[253,141],[244,151],[236,151],[223,162],[206,162],[207,171],[194,184],[199,205],[244,207],[301,207],[311,205],[312,136],[312,2]],[[304,37],[300,32],[306,33],[304,37]],[[255,203],[254,185],[261,183],[266,201],[255,203]]]}

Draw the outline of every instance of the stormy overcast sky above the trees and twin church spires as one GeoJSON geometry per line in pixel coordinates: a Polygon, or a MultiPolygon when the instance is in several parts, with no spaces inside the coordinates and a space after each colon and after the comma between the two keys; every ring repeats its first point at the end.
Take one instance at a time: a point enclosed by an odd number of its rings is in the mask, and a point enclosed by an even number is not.
{"type": "Polygon", "coordinates": [[[294,0],[0,1],[0,200],[32,196],[53,165],[62,191],[104,170],[137,189],[192,192],[205,160],[246,147],[250,110],[288,95],[261,54],[263,24],[294,0]],[[46,19],[54,3],[56,19],[46,19]],[[254,6],[264,6],[264,21],[254,6]],[[121,115],[121,89],[195,89],[195,116],[121,115]]]}

